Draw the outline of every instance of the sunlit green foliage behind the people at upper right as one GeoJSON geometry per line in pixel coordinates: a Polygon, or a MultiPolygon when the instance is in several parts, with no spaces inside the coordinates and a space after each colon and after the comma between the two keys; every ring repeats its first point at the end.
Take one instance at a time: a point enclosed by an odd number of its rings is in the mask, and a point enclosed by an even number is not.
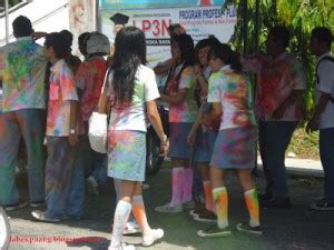
{"type": "MultiPolygon", "coordinates": [[[[238,21],[232,38],[234,47],[244,50],[244,6],[243,0],[226,0],[223,8],[233,3],[237,6],[238,21]]],[[[258,38],[256,38],[256,0],[247,2],[247,52],[265,50],[265,41],[268,29],[275,24],[285,24],[292,33],[291,52],[298,56],[303,61],[308,77],[308,89],[305,93],[306,114],[310,116],[314,108],[314,70],[315,58],[310,54],[310,34],[313,28],[318,26],[328,27],[334,32],[334,1],[333,0],[259,0],[258,38]]]]}

